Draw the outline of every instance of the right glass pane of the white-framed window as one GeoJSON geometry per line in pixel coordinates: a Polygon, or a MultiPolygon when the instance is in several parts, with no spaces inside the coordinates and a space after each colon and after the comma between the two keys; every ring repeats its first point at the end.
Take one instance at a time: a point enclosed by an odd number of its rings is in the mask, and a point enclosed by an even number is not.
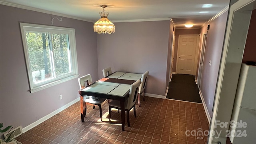
{"type": "Polygon", "coordinates": [[[52,49],[56,76],[71,72],[68,34],[52,34],[52,49]]]}

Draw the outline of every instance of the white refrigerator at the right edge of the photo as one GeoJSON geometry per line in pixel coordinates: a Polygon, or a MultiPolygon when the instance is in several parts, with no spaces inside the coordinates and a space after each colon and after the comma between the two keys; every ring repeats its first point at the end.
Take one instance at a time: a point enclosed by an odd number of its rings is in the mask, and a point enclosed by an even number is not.
{"type": "Polygon", "coordinates": [[[227,136],[232,144],[256,144],[256,66],[242,64],[227,136]]]}

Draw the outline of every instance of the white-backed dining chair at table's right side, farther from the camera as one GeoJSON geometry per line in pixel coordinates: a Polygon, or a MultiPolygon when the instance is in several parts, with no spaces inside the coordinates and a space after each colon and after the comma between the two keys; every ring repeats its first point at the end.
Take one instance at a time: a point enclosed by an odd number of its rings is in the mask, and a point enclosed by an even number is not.
{"type": "Polygon", "coordinates": [[[140,87],[139,87],[139,91],[138,91],[139,106],[140,106],[140,96],[142,96],[143,101],[145,101],[145,88],[146,88],[147,80],[148,80],[148,71],[144,72],[141,76],[140,87]]]}

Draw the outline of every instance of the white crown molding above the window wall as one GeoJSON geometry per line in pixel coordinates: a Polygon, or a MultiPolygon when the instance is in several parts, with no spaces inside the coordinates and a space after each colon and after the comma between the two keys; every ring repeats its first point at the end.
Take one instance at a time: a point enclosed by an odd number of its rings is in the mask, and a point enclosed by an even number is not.
{"type": "Polygon", "coordinates": [[[32,10],[32,11],[36,11],[36,12],[42,12],[42,13],[56,15],[56,16],[63,16],[63,17],[66,17],[66,18],[73,18],[73,19],[76,19],[76,20],[82,20],[82,21],[86,21],[86,22],[94,22],[92,20],[86,20],[84,18],[78,18],[78,17],[75,17],[75,16],[60,14],[60,13],[57,13],[57,12],[51,12],[51,11],[48,11],[48,10],[42,10],[42,9],[39,9],[39,8],[33,8],[33,7],[30,7],[30,6],[24,6],[24,5],[20,5],[20,4],[12,4],[10,2],[0,1],[0,4],[6,5],[6,6],[12,6],[12,7],[16,7],[16,8],[22,8],[22,9],[26,9],[26,10],[32,10]]]}

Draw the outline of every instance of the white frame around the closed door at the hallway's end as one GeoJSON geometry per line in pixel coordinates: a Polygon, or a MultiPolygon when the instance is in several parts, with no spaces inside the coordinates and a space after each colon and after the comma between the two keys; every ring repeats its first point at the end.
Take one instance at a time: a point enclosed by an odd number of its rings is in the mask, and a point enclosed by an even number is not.
{"type": "Polygon", "coordinates": [[[179,38],[178,38],[178,48],[177,48],[177,57],[176,57],[176,74],[177,74],[177,69],[178,69],[178,57],[179,57],[179,49],[180,49],[180,37],[181,36],[197,36],[196,39],[196,52],[195,52],[195,58],[194,58],[194,68],[193,68],[193,76],[196,75],[196,67],[197,67],[197,62],[198,62],[198,50],[199,50],[199,40],[200,40],[200,36],[199,34],[179,34],[179,38]]]}

